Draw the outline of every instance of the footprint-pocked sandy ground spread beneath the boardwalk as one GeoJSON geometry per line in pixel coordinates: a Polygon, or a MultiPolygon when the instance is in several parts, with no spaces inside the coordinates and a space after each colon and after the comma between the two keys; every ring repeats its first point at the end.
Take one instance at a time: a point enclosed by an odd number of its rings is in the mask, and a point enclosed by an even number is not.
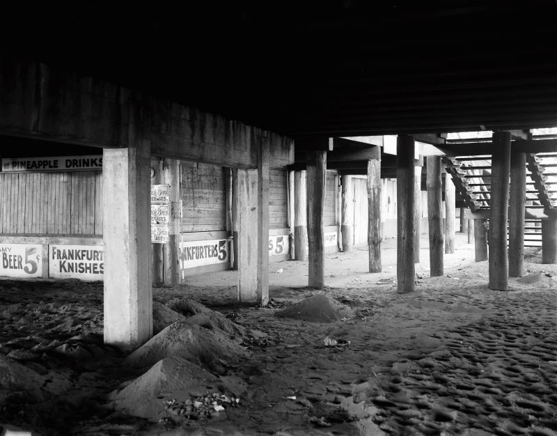
{"type": "Polygon", "coordinates": [[[204,329],[188,338],[243,351],[190,359],[169,347],[151,370],[126,366],[125,353],[102,344],[102,283],[1,281],[0,423],[39,435],[556,434],[557,266],[531,251],[525,276],[502,293],[487,289],[487,263],[463,253],[447,256],[443,277],[418,265],[407,295],[395,293],[389,253],[384,272],[340,286],[345,265],[366,262],[361,250],[327,256],[337,277],[324,290],[280,286],[304,263],[272,264],[283,273],[271,274],[266,308],[235,304],[225,284],[234,272],[155,288],[159,320],[178,320],[175,334],[204,329]],[[319,294],[352,316],[276,316],[319,294]],[[179,386],[173,368],[187,375],[179,386]]]}

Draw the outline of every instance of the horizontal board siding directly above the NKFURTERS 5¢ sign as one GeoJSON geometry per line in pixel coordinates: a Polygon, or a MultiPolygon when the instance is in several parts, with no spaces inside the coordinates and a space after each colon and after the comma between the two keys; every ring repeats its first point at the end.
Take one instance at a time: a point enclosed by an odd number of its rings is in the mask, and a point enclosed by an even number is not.
{"type": "Polygon", "coordinates": [[[226,229],[222,166],[182,162],[182,232],[226,229]]]}

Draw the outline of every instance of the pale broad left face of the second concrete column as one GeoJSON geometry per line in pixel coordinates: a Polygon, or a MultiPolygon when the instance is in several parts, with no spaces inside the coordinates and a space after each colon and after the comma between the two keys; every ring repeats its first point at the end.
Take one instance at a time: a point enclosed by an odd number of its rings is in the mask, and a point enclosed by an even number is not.
{"type": "Polygon", "coordinates": [[[238,301],[254,303],[258,299],[257,170],[235,169],[234,173],[238,301]]]}

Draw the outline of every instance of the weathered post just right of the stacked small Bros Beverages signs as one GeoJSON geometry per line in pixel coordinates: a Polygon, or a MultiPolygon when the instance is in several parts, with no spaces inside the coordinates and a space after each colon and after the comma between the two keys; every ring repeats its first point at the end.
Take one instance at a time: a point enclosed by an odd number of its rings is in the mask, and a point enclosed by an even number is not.
{"type": "Polygon", "coordinates": [[[180,232],[182,231],[182,201],[180,198],[180,162],[163,159],[163,180],[170,194],[168,244],[162,244],[164,256],[164,286],[180,284],[180,232]]]}

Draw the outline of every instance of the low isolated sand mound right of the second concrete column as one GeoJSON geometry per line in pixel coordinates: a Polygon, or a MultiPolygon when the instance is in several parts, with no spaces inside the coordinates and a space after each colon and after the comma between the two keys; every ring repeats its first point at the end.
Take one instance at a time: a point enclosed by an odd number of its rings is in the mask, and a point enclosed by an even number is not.
{"type": "Polygon", "coordinates": [[[341,318],[352,318],[354,311],[329,295],[317,294],[277,312],[276,316],[311,322],[333,322],[341,318]]]}

